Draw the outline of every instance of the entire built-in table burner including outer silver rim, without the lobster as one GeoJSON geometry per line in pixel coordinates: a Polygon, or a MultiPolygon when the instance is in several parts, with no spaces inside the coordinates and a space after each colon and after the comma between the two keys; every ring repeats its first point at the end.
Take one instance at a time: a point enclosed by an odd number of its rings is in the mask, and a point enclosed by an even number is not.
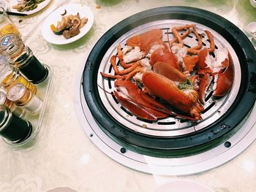
{"type": "MultiPolygon", "coordinates": [[[[194,47],[194,34],[184,40],[194,47]]],[[[214,57],[214,53],[211,57],[214,57]]],[[[161,7],[133,15],[110,28],[80,70],[75,102],[86,134],[104,153],[125,166],[154,174],[195,174],[236,157],[256,137],[256,54],[249,39],[228,20],[192,7],[161,7]],[[114,73],[110,65],[116,46],[136,34],[161,28],[163,40],[173,38],[171,28],[195,23],[203,46],[214,35],[215,49],[227,47],[234,65],[233,88],[216,99],[208,90],[202,120],[179,118],[148,121],[137,118],[109,93],[113,81],[99,72],[114,73]],[[102,89],[103,88],[103,89],[102,89]]]]}

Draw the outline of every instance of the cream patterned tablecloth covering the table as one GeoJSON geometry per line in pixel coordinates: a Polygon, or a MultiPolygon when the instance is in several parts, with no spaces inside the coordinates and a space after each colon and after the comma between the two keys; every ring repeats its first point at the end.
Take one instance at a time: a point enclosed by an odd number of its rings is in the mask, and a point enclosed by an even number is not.
{"type": "MultiPolygon", "coordinates": [[[[27,17],[11,16],[34,55],[53,69],[53,85],[37,142],[13,150],[0,141],[0,191],[152,191],[172,180],[193,180],[218,192],[255,191],[256,143],[229,163],[187,177],[144,174],[116,163],[102,153],[81,128],[75,112],[74,87],[83,64],[97,40],[124,18],[154,7],[182,5],[216,12],[245,31],[256,20],[249,0],[52,0],[45,9],[27,17]],[[42,23],[62,4],[80,3],[94,12],[86,36],[69,45],[52,45],[41,34],[42,23]]],[[[171,191],[171,189],[170,189],[171,191]]]]}

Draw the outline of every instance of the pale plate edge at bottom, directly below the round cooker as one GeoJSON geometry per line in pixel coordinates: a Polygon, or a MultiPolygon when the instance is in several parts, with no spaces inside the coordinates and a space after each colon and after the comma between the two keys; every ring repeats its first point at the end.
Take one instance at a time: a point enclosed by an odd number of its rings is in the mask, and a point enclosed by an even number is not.
{"type": "Polygon", "coordinates": [[[190,180],[176,180],[158,186],[152,192],[214,192],[210,188],[190,180]]]}

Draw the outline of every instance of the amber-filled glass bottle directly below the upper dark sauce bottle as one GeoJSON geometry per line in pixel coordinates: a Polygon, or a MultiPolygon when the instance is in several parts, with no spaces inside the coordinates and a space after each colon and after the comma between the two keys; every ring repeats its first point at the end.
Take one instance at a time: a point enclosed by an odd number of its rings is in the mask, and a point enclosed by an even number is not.
{"type": "Polygon", "coordinates": [[[33,93],[37,93],[36,85],[29,82],[22,74],[20,74],[18,69],[11,66],[8,63],[7,58],[0,55],[0,86],[7,90],[10,85],[18,82],[23,83],[23,85],[25,85],[26,88],[31,89],[33,93]]]}

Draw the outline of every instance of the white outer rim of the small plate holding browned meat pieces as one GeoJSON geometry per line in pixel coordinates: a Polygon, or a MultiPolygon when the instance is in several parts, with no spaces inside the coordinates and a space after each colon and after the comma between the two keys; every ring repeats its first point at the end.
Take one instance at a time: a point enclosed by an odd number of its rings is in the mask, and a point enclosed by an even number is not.
{"type": "MultiPolygon", "coordinates": [[[[54,21],[52,22],[54,23],[54,21]]],[[[69,43],[72,43],[72,42],[76,42],[78,39],[84,37],[90,30],[91,30],[91,27],[93,26],[94,24],[94,12],[92,12],[91,8],[89,6],[86,6],[85,4],[65,4],[61,7],[58,7],[56,10],[54,10],[53,12],[50,13],[50,15],[48,15],[47,18],[45,18],[45,21],[44,23],[42,23],[42,29],[41,29],[41,34],[42,34],[42,37],[44,37],[44,39],[47,41],[47,42],[50,42],[51,44],[53,45],[67,45],[69,43]],[[88,29],[86,31],[84,31],[83,33],[80,33],[78,34],[78,36],[75,36],[75,37],[72,37],[72,38],[69,38],[69,39],[61,39],[61,40],[51,40],[47,37],[47,31],[48,29],[47,28],[50,28],[50,25],[48,23],[48,20],[54,15],[56,14],[56,12],[59,12],[59,10],[61,9],[65,9],[67,7],[83,7],[86,8],[88,11],[89,11],[89,15],[90,15],[90,23],[86,23],[86,24],[90,24],[88,29]]]]}

